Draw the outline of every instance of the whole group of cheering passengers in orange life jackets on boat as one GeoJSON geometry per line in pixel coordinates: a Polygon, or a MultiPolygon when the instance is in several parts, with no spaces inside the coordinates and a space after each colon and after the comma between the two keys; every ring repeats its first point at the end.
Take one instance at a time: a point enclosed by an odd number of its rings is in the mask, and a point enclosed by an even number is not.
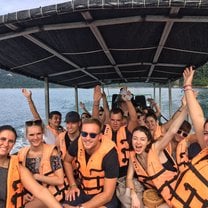
{"type": "Polygon", "coordinates": [[[109,110],[96,86],[92,113],[80,103],[82,115],[68,112],[66,128],[58,111],[44,125],[32,92],[23,89],[33,115],[25,122],[30,145],[10,155],[16,131],[0,127],[0,208],[208,207],[208,120],[193,75],[192,67],[184,70],[181,106],[164,124],[154,100],[152,109],[139,109],[124,87],[109,110]]]}

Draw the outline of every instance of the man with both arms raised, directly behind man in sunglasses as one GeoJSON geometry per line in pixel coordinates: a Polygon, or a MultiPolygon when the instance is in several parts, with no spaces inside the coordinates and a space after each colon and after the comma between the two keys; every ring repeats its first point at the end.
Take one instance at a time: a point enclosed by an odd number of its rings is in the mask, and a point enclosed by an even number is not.
{"type": "MultiPolygon", "coordinates": [[[[124,91],[122,100],[128,109],[128,125],[123,125],[123,111],[120,108],[113,108],[110,111],[109,122],[104,125],[102,130],[103,134],[116,144],[120,164],[119,178],[126,176],[129,160],[129,141],[131,139],[131,132],[137,126],[137,114],[131,102],[131,92],[127,91],[127,88],[124,88],[124,91]]],[[[96,116],[96,113],[99,111],[101,97],[101,88],[100,86],[96,86],[94,89],[93,116],[96,116]]]]}

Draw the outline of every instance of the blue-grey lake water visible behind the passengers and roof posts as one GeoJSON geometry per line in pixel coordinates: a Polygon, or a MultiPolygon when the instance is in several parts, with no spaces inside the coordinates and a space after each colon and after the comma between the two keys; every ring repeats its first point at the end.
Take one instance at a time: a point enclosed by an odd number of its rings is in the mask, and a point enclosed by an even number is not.
{"type": "MultiPolygon", "coordinates": [[[[129,88],[133,94],[143,95],[147,97],[153,97],[152,88],[129,88]]],[[[208,89],[197,89],[199,91],[198,99],[204,109],[205,115],[208,113],[208,89]]],[[[32,97],[34,103],[37,107],[39,114],[42,119],[45,118],[45,97],[44,89],[31,89],[32,97]]],[[[105,88],[106,95],[110,96],[112,94],[117,94],[119,88],[105,88]]],[[[158,89],[156,89],[156,101],[158,102],[158,89]]],[[[161,89],[162,94],[162,105],[161,111],[162,115],[166,118],[169,118],[169,102],[168,102],[168,88],[161,89]]],[[[172,89],[172,108],[173,112],[177,110],[180,106],[180,100],[183,95],[181,88],[172,89]]],[[[92,110],[92,99],[93,99],[93,90],[92,89],[79,89],[78,90],[79,101],[85,103],[89,111],[92,110]]],[[[75,110],[75,91],[72,88],[52,88],[50,89],[50,111],[58,110],[62,113],[63,118],[66,113],[71,110],[75,110]]],[[[109,100],[110,101],[110,100],[109,100]]],[[[14,126],[18,132],[17,143],[13,151],[16,151],[21,146],[27,144],[27,141],[24,139],[24,122],[32,119],[28,103],[25,97],[21,93],[21,89],[0,89],[0,125],[10,124],[14,126]]],[[[79,113],[82,113],[79,110],[79,113]]],[[[63,119],[64,120],[64,119],[63,119]]],[[[64,126],[64,123],[62,123],[64,126]]]]}

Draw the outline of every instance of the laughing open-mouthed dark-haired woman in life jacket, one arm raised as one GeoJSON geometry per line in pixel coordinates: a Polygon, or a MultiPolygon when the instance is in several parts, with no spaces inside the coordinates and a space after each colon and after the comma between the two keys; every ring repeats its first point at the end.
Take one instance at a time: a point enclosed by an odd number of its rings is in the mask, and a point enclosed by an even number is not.
{"type": "MultiPolygon", "coordinates": [[[[127,188],[130,189],[128,197],[132,207],[140,207],[143,203],[145,204],[145,201],[141,200],[141,194],[138,195],[136,192],[133,182],[135,175],[137,175],[138,181],[144,185],[145,189],[154,188],[165,200],[166,203],[163,203],[163,200],[159,200],[159,203],[162,203],[159,206],[157,200],[153,201],[153,203],[156,203],[154,207],[170,206],[172,196],[170,190],[175,188],[178,169],[166,147],[177,133],[186,115],[187,109],[184,107],[178,117],[174,119],[171,128],[158,140],[154,139],[150,128],[139,126],[133,130],[126,177],[127,188]]],[[[151,119],[152,122],[150,123],[155,124],[155,119],[152,117],[151,119]]],[[[148,206],[148,204],[145,204],[145,206],[148,206]]]]}

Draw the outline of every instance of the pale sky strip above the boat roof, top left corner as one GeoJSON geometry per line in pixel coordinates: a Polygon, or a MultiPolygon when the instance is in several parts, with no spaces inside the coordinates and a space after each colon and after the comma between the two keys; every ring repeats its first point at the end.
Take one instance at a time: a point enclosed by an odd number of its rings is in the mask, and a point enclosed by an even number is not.
{"type": "Polygon", "coordinates": [[[66,1],[67,0],[0,0],[0,15],[66,1]]]}

